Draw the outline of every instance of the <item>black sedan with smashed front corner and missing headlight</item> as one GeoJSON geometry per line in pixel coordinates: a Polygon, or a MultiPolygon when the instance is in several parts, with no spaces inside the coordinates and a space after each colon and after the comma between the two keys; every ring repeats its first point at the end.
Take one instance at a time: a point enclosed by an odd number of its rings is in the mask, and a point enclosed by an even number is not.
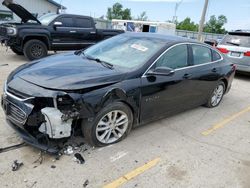
{"type": "Polygon", "coordinates": [[[134,126],[218,106],[234,74],[235,66],[206,44],[126,33],[17,68],[1,103],[7,122],[40,149],[55,152],[50,141],[79,127],[90,144],[106,146],[134,126]]]}

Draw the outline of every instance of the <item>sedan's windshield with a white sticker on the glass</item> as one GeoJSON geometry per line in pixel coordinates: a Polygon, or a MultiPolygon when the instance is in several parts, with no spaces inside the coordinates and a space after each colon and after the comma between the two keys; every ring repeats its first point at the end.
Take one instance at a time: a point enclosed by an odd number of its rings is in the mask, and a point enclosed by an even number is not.
{"type": "Polygon", "coordinates": [[[133,69],[144,65],[165,44],[157,38],[118,35],[88,48],[84,54],[112,65],[133,69]]]}

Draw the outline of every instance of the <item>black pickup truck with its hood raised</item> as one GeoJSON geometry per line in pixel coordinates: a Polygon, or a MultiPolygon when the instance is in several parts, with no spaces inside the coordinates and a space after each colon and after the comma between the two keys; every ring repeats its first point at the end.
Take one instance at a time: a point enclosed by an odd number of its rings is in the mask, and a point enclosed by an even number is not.
{"type": "Polygon", "coordinates": [[[19,4],[2,3],[22,20],[0,25],[0,42],[29,60],[47,56],[48,51],[79,50],[122,30],[96,29],[93,18],[71,14],[46,14],[36,18],[19,4]]]}

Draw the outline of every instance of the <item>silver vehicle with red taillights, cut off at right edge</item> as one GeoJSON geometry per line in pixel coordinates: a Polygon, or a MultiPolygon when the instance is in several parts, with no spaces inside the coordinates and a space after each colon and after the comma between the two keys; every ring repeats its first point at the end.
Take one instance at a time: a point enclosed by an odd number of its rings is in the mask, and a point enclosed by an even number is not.
{"type": "Polygon", "coordinates": [[[238,72],[250,73],[250,31],[228,33],[217,48],[237,65],[238,72]]]}

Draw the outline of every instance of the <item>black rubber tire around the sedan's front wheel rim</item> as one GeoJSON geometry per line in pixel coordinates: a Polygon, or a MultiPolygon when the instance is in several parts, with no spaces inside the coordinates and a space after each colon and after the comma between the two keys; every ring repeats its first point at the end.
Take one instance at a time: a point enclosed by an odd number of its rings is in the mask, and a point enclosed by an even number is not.
{"type": "Polygon", "coordinates": [[[133,125],[133,114],[132,114],[132,111],[130,110],[130,108],[122,102],[115,102],[115,103],[109,104],[106,107],[104,107],[96,115],[93,122],[88,122],[87,120],[83,121],[82,131],[83,131],[83,134],[84,134],[87,142],[89,142],[91,145],[101,147],[101,146],[115,144],[115,143],[123,140],[131,131],[132,125],[133,125]],[[104,144],[104,143],[99,142],[98,139],[96,138],[96,127],[97,127],[97,124],[100,121],[100,119],[104,115],[106,115],[108,112],[113,111],[113,110],[120,110],[120,111],[123,111],[124,113],[127,114],[128,119],[129,119],[128,128],[127,128],[126,132],[124,133],[124,135],[121,138],[119,138],[117,141],[110,143],[110,144],[104,144]]]}

